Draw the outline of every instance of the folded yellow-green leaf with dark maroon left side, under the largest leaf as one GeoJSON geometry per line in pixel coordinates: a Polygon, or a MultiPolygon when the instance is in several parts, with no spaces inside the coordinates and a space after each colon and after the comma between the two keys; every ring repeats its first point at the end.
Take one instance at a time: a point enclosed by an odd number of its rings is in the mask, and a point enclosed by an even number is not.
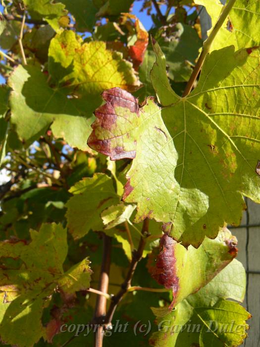
{"type": "Polygon", "coordinates": [[[206,238],[198,249],[190,246],[187,250],[164,234],[158,253],[150,258],[149,271],[160,285],[172,289],[170,309],[204,287],[230,263],[237,255],[236,243],[236,238],[226,229],[214,240],[206,238]]]}

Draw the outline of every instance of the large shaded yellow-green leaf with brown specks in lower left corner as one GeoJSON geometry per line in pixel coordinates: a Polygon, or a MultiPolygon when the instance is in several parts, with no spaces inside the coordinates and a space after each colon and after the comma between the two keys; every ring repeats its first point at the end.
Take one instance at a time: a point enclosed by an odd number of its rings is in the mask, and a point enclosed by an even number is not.
{"type": "Polygon", "coordinates": [[[34,346],[46,336],[41,318],[55,288],[65,297],[74,296],[76,290],[89,288],[92,272],[86,259],[63,272],[67,241],[60,224],[43,224],[39,232],[31,230],[31,238],[29,244],[0,244],[1,341],[21,347],[34,346]]]}

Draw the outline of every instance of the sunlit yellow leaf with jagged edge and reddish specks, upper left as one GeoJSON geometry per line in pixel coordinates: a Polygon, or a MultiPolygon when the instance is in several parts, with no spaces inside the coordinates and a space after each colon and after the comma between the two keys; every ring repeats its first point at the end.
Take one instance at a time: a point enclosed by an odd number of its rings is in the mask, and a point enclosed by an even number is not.
{"type": "Polygon", "coordinates": [[[49,71],[57,86],[63,85],[87,98],[91,112],[100,104],[104,89],[134,91],[140,86],[132,64],[121,53],[107,50],[102,41],[82,43],[73,31],[64,31],[52,39],[49,71]]]}

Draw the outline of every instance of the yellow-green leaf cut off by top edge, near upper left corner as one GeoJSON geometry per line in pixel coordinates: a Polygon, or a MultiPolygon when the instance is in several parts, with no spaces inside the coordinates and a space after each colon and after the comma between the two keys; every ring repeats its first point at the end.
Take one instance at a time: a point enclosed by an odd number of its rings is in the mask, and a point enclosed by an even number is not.
{"type": "Polygon", "coordinates": [[[60,18],[67,14],[65,5],[61,2],[54,3],[52,0],[23,0],[32,19],[44,19],[56,31],[60,31],[60,18]]]}

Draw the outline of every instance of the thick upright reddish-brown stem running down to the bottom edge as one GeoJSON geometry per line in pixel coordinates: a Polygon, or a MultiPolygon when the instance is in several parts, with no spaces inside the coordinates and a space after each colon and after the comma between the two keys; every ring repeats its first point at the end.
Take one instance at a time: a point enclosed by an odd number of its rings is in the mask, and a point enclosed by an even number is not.
{"type": "MultiPolygon", "coordinates": [[[[103,257],[100,272],[99,291],[107,294],[109,283],[109,270],[111,262],[111,237],[103,233],[103,257]]],[[[106,300],[104,295],[98,295],[96,301],[96,310],[93,322],[98,324],[95,332],[95,347],[102,347],[104,338],[104,317],[106,313],[106,300]]]]}

